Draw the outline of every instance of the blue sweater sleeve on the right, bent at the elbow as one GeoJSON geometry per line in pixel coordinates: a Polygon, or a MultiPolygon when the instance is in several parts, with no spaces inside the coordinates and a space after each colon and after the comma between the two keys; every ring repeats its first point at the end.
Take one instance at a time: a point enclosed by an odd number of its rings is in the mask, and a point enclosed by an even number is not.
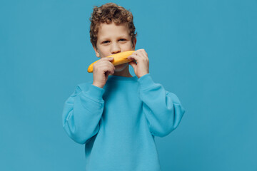
{"type": "Polygon", "coordinates": [[[175,94],[153,82],[150,73],[138,78],[138,82],[138,93],[151,134],[158,137],[168,135],[178,127],[185,109],[175,94]]]}

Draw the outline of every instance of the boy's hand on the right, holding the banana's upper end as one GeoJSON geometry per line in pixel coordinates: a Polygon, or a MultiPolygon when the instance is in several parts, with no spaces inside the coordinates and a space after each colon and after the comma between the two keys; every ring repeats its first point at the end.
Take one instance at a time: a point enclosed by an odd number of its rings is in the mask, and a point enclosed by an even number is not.
{"type": "Polygon", "coordinates": [[[128,59],[134,59],[135,61],[131,61],[129,65],[133,67],[133,70],[138,78],[149,73],[149,59],[146,51],[142,49],[138,49],[134,51],[128,59]]]}

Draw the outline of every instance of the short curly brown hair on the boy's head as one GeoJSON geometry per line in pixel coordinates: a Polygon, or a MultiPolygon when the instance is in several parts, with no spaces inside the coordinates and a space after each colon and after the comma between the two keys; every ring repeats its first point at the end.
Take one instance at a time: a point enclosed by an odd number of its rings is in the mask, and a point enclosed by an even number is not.
{"type": "Polygon", "coordinates": [[[89,19],[90,25],[90,41],[94,48],[96,48],[97,34],[101,23],[110,24],[114,21],[115,24],[126,24],[129,28],[129,35],[131,36],[131,42],[136,38],[135,26],[133,24],[133,15],[131,11],[124,9],[122,6],[118,6],[114,3],[107,3],[100,7],[94,6],[93,13],[89,19]]]}

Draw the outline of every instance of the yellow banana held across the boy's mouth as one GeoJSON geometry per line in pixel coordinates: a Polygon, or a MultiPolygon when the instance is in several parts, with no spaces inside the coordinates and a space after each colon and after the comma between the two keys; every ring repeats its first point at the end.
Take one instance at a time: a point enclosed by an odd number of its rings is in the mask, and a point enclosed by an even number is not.
{"type": "MultiPolygon", "coordinates": [[[[114,66],[118,66],[122,63],[129,63],[129,62],[133,61],[133,59],[127,59],[129,56],[131,56],[131,54],[133,52],[134,51],[124,51],[124,52],[116,53],[116,54],[111,55],[111,56],[106,56],[106,58],[113,57],[114,60],[111,61],[111,63],[113,63],[114,66]]],[[[99,60],[97,60],[97,61],[99,61],[99,60]]],[[[96,63],[97,61],[95,61],[94,63],[96,63]]],[[[89,68],[88,68],[89,73],[93,72],[94,63],[91,63],[91,65],[89,66],[89,68]]]]}

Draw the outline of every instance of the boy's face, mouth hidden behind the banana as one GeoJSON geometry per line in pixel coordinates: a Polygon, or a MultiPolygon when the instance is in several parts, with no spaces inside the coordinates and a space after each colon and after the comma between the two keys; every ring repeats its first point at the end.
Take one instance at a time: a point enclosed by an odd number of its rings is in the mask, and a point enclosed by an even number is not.
{"type": "MultiPolygon", "coordinates": [[[[94,48],[97,57],[104,58],[115,53],[135,50],[136,38],[132,43],[131,36],[129,36],[129,28],[126,24],[116,25],[114,22],[111,22],[111,24],[100,24],[97,36],[97,48],[94,48]]],[[[127,65],[128,63],[124,63],[116,68],[127,65]]]]}

